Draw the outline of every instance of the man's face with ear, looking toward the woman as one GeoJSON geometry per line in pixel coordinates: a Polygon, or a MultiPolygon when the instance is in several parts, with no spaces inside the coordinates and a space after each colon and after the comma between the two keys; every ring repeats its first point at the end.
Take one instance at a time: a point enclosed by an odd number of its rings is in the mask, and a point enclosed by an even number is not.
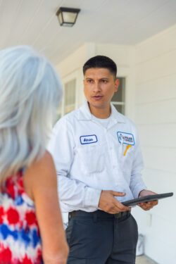
{"type": "Polygon", "coordinates": [[[89,68],[84,74],[84,94],[89,106],[104,108],[110,105],[114,92],[118,91],[119,80],[114,80],[106,68],[89,68]]]}

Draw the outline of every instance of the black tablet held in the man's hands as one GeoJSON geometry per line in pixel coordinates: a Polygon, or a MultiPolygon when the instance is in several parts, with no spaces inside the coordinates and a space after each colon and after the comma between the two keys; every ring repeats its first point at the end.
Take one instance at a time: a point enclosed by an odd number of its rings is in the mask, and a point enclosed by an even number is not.
{"type": "Polygon", "coordinates": [[[155,201],[158,199],[163,199],[172,196],[172,192],[168,192],[165,194],[153,194],[153,195],[148,195],[148,196],[143,196],[137,199],[129,200],[129,201],[123,201],[122,204],[124,206],[136,206],[137,203],[144,203],[146,201],[155,201]]]}

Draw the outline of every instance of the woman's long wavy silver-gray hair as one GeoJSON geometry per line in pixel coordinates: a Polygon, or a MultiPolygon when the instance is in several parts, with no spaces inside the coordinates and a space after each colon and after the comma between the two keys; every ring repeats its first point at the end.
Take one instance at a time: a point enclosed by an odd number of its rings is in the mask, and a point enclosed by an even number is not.
{"type": "Polygon", "coordinates": [[[61,81],[30,46],[0,51],[0,183],[41,158],[61,101],[61,81]]]}

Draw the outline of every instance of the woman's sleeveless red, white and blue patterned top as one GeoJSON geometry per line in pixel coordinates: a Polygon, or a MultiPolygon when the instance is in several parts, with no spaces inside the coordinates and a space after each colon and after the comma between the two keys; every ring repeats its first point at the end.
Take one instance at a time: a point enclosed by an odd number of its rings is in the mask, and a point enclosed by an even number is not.
{"type": "Polygon", "coordinates": [[[43,263],[34,202],[25,193],[22,170],[15,179],[8,177],[0,192],[0,263],[43,263]]]}

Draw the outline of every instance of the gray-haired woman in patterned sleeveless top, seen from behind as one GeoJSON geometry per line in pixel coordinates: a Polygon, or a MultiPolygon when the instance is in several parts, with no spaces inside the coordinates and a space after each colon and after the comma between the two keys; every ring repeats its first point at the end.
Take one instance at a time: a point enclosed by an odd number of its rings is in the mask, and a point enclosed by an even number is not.
{"type": "Polygon", "coordinates": [[[56,170],[46,151],[61,82],[29,46],[0,51],[0,263],[65,264],[56,170]]]}

